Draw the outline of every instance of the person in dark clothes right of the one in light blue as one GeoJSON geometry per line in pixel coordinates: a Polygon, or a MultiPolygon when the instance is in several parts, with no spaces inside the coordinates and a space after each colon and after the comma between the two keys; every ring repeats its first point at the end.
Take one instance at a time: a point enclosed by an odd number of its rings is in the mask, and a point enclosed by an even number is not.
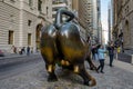
{"type": "Polygon", "coordinates": [[[108,50],[109,50],[109,57],[110,57],[110,63],[109,63],[109,66],[110,66],[110,67],[113,67],[112,63],[113,63],[113,59],[114,59],[114,44],[111,43],[111,44],[108,47],[108,50]]]}

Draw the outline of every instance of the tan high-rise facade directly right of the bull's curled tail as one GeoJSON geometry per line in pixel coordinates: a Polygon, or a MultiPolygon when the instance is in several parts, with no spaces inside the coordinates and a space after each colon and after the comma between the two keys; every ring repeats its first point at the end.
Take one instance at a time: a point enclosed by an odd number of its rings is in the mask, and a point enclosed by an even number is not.
{"type": "Polygon", "coordinates": [[[93,33],[92,0],[79,0],[79,22],[85,29],[85,36],[93,33]]]}

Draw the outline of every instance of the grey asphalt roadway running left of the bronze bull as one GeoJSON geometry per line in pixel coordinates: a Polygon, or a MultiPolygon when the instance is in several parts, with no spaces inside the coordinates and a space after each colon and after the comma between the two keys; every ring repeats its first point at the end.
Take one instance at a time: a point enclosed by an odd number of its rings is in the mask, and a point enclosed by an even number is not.
{"type": "Polygon", "coordinates": [[[30,71],[34,69],[40,62],[43,62],[41,56],[25,56],[17,58],[17,60],[21,61],[0,66],[0,80],[30,71]]]}

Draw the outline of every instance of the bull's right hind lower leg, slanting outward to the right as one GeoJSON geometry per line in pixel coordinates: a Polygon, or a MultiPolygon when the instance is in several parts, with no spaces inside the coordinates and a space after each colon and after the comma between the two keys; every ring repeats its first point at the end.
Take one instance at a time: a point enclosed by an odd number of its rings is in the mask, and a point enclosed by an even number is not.
{"type": "Polygon", "coordinates": [[[86,85],[86,86],[95,86],[96,85],[95,79],[86,72],[86,70],[84,69],[84,66],[80,66],[80,70],[79,70],[78,75],[80,75],[83,78],[84,85],[86,85]]]}

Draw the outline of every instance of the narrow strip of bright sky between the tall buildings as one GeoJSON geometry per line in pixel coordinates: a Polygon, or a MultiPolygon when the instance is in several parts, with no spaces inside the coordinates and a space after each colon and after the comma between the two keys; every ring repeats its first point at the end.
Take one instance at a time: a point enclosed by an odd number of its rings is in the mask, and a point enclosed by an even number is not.
{"type": "Polygon", "coordinates": [[[105,43],[108,42],[108,8],[111,0],[101,0],[101,22],[104,30],[105,43]]]}

